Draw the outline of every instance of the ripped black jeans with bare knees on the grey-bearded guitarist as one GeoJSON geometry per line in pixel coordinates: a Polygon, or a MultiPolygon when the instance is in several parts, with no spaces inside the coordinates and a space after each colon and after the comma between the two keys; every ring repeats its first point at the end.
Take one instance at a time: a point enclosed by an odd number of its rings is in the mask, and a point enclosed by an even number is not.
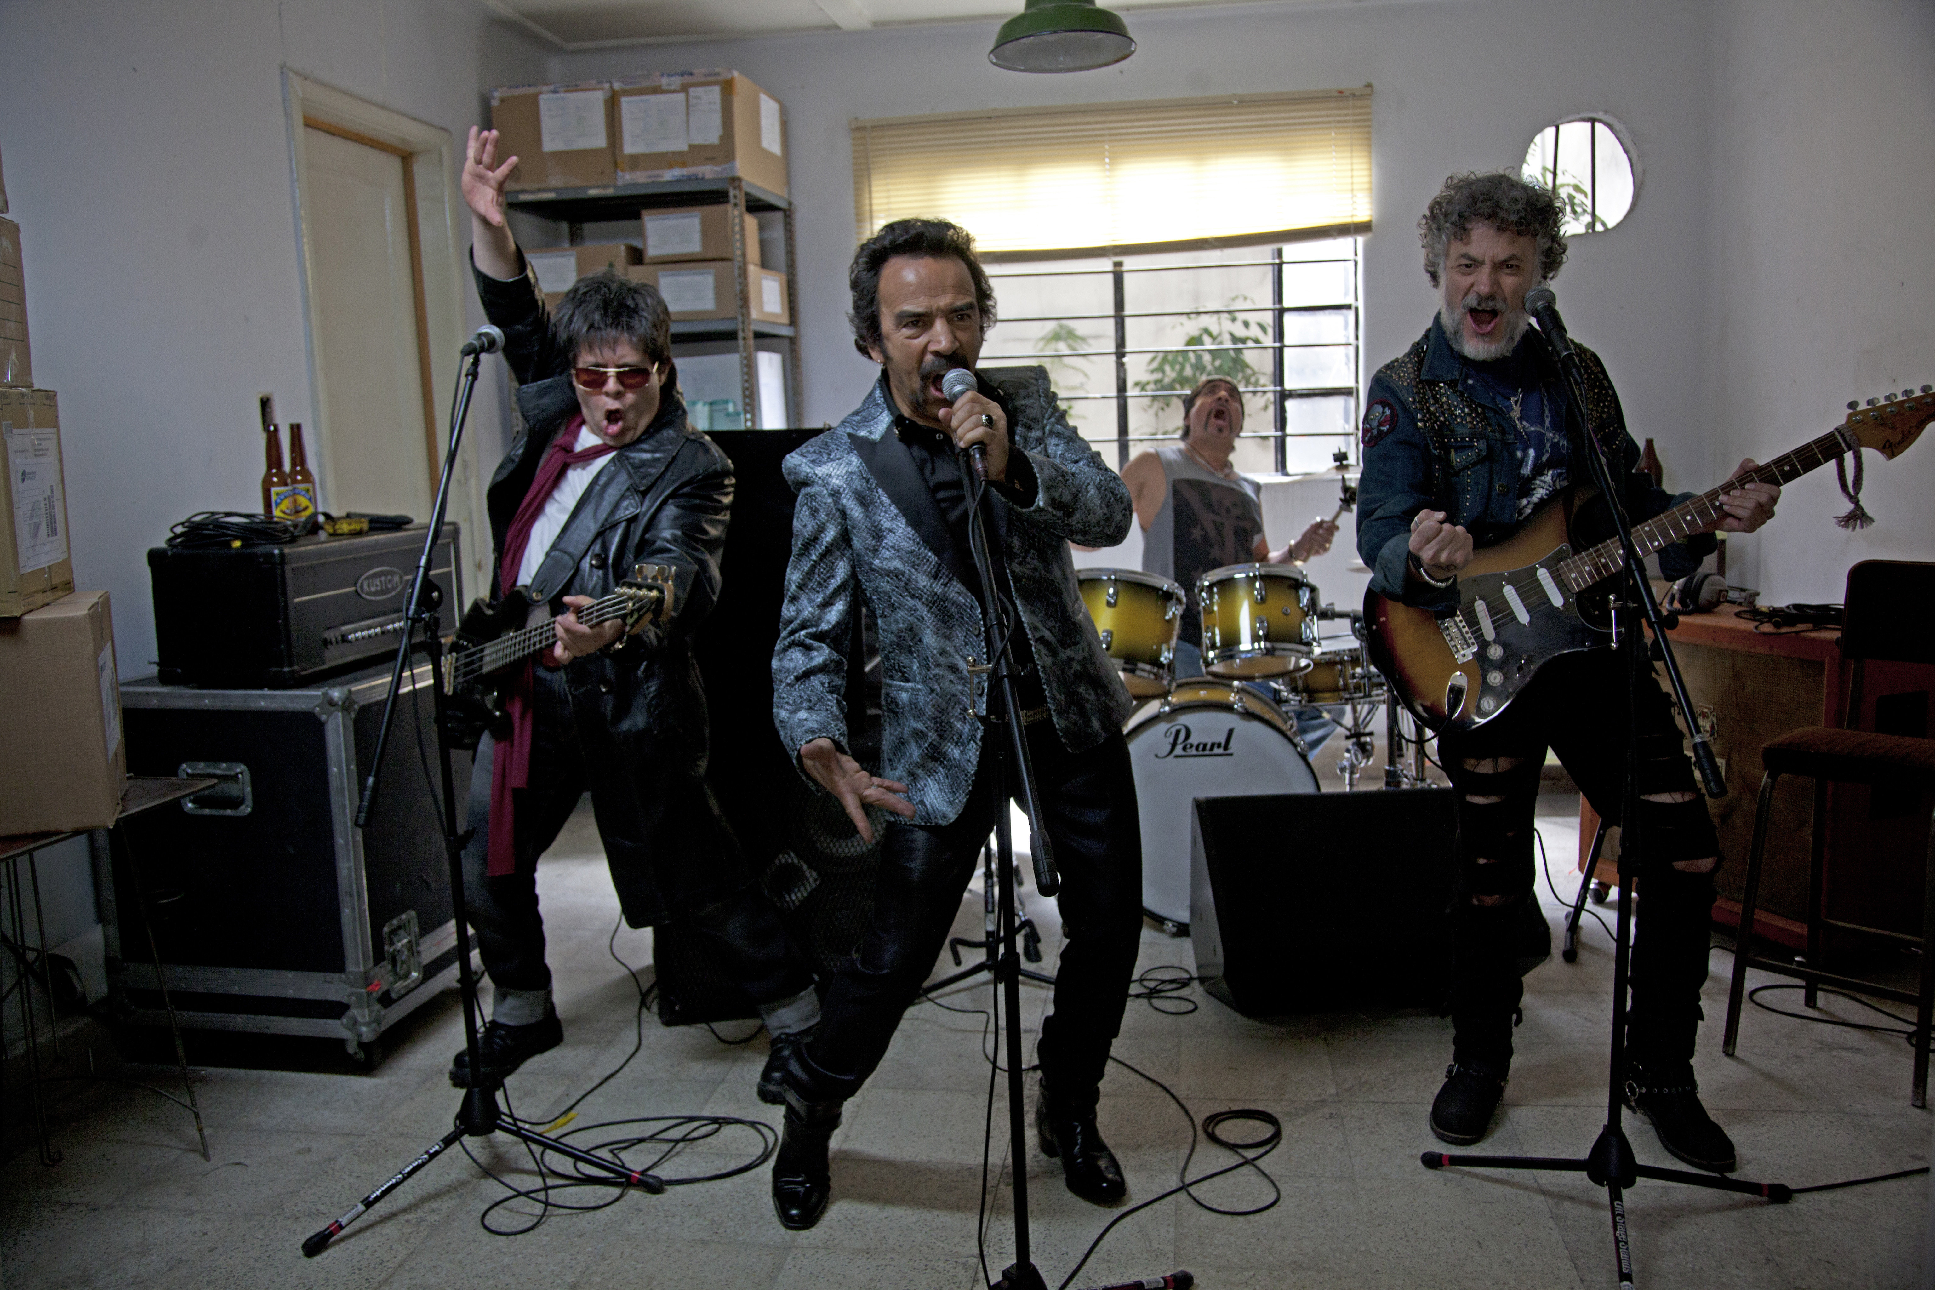
{"type": "MultiPolygon", "coordinates": [[[[1639,741],[1639,801],[1622,830],[1639,863],[1629,1062],[1649,1079],[1687,1077],[1707,981],[1712,818],[1658,683],[1641,685],[1627,719],[1625,652],[1565,654],[1546,663],[1500,718],[1445,731],[1440,760],[1457,789],[1459,888],[1453,897],[1451,1025],[1457,1062],[1503,1070],[1525,994],[1527,901],[1533,894],[1533,808],[1550,747],[1608,824],[1620,824],[1625,750],[1639,741]]],[[[1542,924],[1542,919],[1536,923],[1542,924]]],[[[1550,953],[1550,950],[1546,950],[1550,953]]]]}

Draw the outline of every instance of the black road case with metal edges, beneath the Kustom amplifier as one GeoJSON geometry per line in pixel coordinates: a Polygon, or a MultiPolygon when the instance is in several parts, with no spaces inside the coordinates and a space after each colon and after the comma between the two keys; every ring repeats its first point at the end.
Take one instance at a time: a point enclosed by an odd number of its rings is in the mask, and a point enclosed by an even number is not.
{"type": "MultiPolygon", "coordinates": [[[[387,683],[383,667],[294,690],[122,685],[130,774],[221,781],[97,851],[126,1017],[166,1025],[130,865],[184,1027],[333,1037],[372,1060],[391,1023],[457,979],[428,663],[404,683],[370,828],[354,826],[387,683]]],[[[451,772],[461,818],[470,756],[451,772]]]]}

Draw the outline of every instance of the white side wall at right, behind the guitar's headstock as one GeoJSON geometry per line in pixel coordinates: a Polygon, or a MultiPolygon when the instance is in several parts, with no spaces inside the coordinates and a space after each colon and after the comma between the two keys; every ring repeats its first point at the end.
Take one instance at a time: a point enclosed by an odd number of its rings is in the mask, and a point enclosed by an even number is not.
{"type": "MultiPolygon", "coordinates": [[[[1705,354],[1726,470],[1827,431],[1850,398],[1935,383],[1935,6],[1728,0],[1716,31],[1705,354]]],[[[1935,443],[1869,453],[1877,524],[1850,534],[1819,470],[1732,543],[1730,580],[1774,603],[1836,601],[1860,559],[1935,559],[1931,495],[1935,443]]]]}

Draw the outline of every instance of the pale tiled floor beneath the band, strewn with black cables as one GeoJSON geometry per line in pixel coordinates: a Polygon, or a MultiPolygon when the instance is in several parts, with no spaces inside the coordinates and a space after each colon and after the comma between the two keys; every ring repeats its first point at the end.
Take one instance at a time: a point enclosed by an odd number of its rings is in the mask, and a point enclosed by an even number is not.
{"type": "MultiPolygon", "coordinates": [[[[1548,799],[1550,801],[1550,799],[1548,799]]],[[[1542,818],[1560,890],[1571,892],[1575,830],[1565,799],[1542,818]]],[[[542,868],[544,909],[565,1046],[513,1079],[517,1110],[548,1118],[633,1044],[631,982],[606,953],[615,899],[588,824],[579,822],[542,868]]],[[[1047,948],[1053,909],[1035,903],[1047,948]]],[[[1554,924],[1560,909],[1548,899],[1554,924]]],[[[979,930],[979,897],[958,930],[979,930]]],[[[1554,957],[1529,981],[1519,1058],[1505,1112],[1486,1151],[1579,1155],[1604,1118],[1604,1029],[1612,959],[1587,924],[1575,965],[1554,957]]],[[[642,932],[617,952],[650,961],[642,932]]],[[[1188,965],[1188,942],[1144,932],[1144,965],[1188,965]]],[[[1697,1062],[1707,1104],[1740,1145],[1742,1176],[1796,1186],[1923,1164],[1929,1118],[1908,1106],[1900,1039],[1753,1011],[1738,1058],[1718,1052],[1728,955],[1714,953],[1711,1021],[1697,1062]]],[[[1024,986],[1026,1021],[1045,990],[1024,986]]],[[[1449,1056],[1449,1023],[1432,1015],[1331,1013],[1252,1021],[1194,992],[1182,1017],[1130,1004],[1116,1052],[1169,1083],[1200,1118],[1229,1106],[1267,1108],[1283,1145],[1264,1166],[1283,1199],[1231,1218],[1167,1199],[1124,1220],[1076,1284],[1190,1269],[1215,1290],[1279,1286],[1612,1286],[1604,1195],[1575,1176],[1426,1172],[1436,1147],[1426,1106],[1449,1056]]],[[[946,1002],[981,1008],[987,986],[946,1002]]],[[[1846,1006],[1831,1011],[1856,1015],[1846,1006]]],[[[743,1027],[722,1027],[743,1033],[743,1027]]],[[[813,1232],[784,1232],[766,1174],[631,1193],[596,1213],[551,1213],[542,1226],[497,1238],[478,1226],[503,1191],[459,1153],[447,1155],[356,1222],[319,1259],[304,1236],[410,1160],[455,1110],[443,1077],[459,1046],[455,996],[424,1008],[389,1041],[373,1073],[350,1073],[327,1050],[252,1048],[277,1070],[238,1064],[234,1044],[197,1046],[201,1106],[215,1160],[194,1151],[186,1114],[124,1085],[74,1093],[56,1126],[66,1158],[43,1168],[14,1155],[0,1197],[0,1280],[58,1286],[882,1286],[981,1284],[975,1207],[989,1070],[981,1017],[917,1006],[834,1139],[834,1203],[813,1232]],[[223,1064],[226,1062],[226,1064],[223,1064]]],[[[644,1048],[580,1108],[588,1120],[714,1112],[768,1124],[753,1097],[764,1039],[726,1046],[704,1029],[668,1031],[646,1017],[644,1048]]],[[[134,1071],[164,1083],[157,1068],[134,1071]]],[[[1004,1099],[995,1099],[995,1168],[1004,1172],[1004,1099]]],[[[1134,1199],[1175,1184],[1190,1131],[1159,1089],[1115,1068],[1101,1124],[1122,1157],[1134,1199]]],[[[1240,1131],[1242,1126],[1236,1126],[1240,1131]]],[[[604,1137],[594,1133],[592,1137],[604,1137]]],[[[1645,1124],[1641,1160],[1674,1164],[1645,1124]]],[[[702,1174],[741,1158],[751,1137],[720,1137],[664,1166],[702,1174]]],[[[472,1145],[476,1158],[524,1186],[522,1149],[472,1145]]],[[[1231,1157],[1200,1149],[1196,1172],[1231,1157]]],[[[1109,1220],[1062,1189],[1058,1168],[1029,1153],[1033,1255],[1051,1286],[1109,1220]]],[[[1641,1182],[1629,1193],[1633,1257],[1643,1286],[1910,1286],[1920,1273],[1925,1178],[1798,1197],[1786,1207],[1641,1182]]],[[[584,1199],[588,1193],[563,1193],[584,1199]]],[[[1254,1174],[1202,1187],[1206,1201],[1267,1199],[1254,1174]]],[[[1012,1257],[1006,1186],[995,1199],[987,1261],[1012,1257]]],[[[519,1224],[526,1205],[495,1211],[519,1224]]]]}

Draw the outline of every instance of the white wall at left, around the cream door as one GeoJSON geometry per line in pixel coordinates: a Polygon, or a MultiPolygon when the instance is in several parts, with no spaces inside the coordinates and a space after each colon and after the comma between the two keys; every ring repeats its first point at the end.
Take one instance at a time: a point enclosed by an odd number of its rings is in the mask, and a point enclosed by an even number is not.
{"type": "MultiPolygon", "coordinates": [[[[134,677],[155,658],[147,547],[259,505],[257,391],[315,424],[283,66],[461,141],[542,50],[470,0],[8,0],[0,31],[33,375],[60,391],[75,580],[110,592],[134,677]]],[[[503,408],[478,400],[480,462],[503,408]]]]}

